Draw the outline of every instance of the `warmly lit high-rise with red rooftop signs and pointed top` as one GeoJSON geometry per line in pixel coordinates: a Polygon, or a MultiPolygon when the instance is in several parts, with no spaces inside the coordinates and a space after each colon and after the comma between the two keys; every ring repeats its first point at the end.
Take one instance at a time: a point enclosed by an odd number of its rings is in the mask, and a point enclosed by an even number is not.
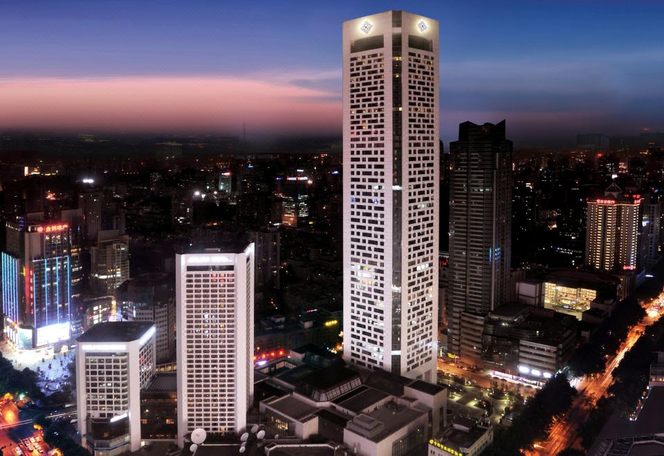
{"type": "Polygon", "coordinates": [[[585,265],[624,273],[638,265],[641,196],[612,183],[599,198],[588,200],[585,265]]]}

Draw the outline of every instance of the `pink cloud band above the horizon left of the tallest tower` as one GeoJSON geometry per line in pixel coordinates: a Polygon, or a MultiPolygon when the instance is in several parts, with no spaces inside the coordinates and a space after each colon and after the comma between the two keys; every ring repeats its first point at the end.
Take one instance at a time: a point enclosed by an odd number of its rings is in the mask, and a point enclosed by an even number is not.
{"type": "Polygon", "coordinates": [[[341,104],[324,91],[260,79],[116,77],[0,80],[1,128],[82,131],[341,129],[341,104]]]}

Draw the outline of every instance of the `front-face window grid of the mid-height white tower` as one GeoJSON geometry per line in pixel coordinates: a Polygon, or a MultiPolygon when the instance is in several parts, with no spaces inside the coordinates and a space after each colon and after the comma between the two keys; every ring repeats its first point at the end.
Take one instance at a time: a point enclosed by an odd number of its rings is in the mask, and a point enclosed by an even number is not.
{"type": "Polygon", "coordinates": [[[187,272],[187,422],[190,430],[235,430],[234,272],[187,272]]]}

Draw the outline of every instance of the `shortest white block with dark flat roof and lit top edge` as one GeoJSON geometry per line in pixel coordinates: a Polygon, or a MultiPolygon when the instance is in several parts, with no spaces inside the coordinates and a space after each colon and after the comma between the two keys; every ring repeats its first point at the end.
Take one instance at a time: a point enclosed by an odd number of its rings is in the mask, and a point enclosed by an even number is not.
{"type": "Polygon", "coordinates": [[[155,332],[152,323],[117,321],[77,339],[78,432],[95,456],[140,449],[140,391],[155,374],[155,332]]]}

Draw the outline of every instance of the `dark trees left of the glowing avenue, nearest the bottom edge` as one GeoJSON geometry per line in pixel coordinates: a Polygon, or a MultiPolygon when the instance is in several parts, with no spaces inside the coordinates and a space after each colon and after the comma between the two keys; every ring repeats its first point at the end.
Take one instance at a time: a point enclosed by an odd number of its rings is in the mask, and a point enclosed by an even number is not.
{"type": "Polygon", "coordinates": [[[561,415],[572,405],[577,391],[570,386],[565,374],[557,374],[528,401],[522,412],[506,430],[497,430],[490,456],[516,456],[521,450],[532,448],[535,441],[548,435],[553,417],[561,415]]]}

